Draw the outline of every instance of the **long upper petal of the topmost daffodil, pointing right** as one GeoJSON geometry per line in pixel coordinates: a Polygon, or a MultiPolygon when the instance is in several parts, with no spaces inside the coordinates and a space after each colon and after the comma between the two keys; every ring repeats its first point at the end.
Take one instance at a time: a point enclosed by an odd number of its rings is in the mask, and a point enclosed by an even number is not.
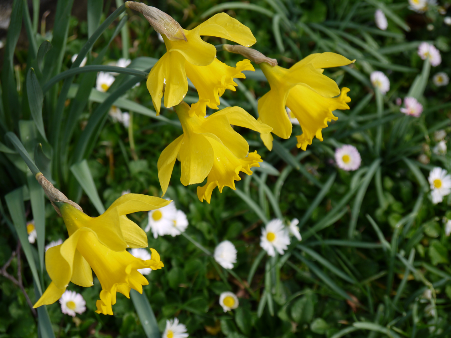
{"type": "Polygon", "coordinates": [[[198,27],[200,27],[200,35],[223,37],[227,40],[235,41],[242,46],[249,47],[257,42],[248,27],[226,13],[213,15],[198,27]]]}

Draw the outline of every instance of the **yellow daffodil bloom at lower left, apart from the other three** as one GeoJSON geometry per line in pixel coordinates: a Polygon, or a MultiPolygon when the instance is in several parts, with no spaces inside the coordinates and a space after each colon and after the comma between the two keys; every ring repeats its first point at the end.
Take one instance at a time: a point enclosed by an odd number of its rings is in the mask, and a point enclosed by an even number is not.
{"type": "Polygon", "coordinates": [[[69,281],[85,288],[92,286],[91,269],[102,287],[97,313],[113,314],[111,305],[116,302],[116,292],[128,298],[132,288],[142,293],[148,281],[137,269],[156,270],[164,265],[154,249],[150,249],[150,260],[141,260],[125,250],[147,247],[146,233],[126,215],[155,210],[169,203],[159,197],[125,194],[96,218],[64,203],[60,212],[69,238],[47,250],[46,270],[52,282],[33,307],[60,299],[69,281]]]}

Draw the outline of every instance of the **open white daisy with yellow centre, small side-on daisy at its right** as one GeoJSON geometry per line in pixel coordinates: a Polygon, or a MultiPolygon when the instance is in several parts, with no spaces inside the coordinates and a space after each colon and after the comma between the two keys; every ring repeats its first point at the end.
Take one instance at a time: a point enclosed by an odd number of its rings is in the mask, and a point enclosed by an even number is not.
{"type": "Polygon", "coordinates": [[[260,247],[265,249],[269,256],[276,256],[275,250],[283,255],[288,245],[290,245],[290,236],[281,219],[273,219],[262,229],[260,247]]]}

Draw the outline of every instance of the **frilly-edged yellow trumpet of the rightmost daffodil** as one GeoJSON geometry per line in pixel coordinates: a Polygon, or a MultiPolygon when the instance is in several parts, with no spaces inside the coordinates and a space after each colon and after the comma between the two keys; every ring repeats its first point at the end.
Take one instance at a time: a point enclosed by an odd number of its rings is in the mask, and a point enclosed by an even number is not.
{"type": "Polygon", "coordinates": [[[327,127],[327,122],[337,119],[332,111],[349,109],[347,102],[351,99],[346,95],[348,91],[348,88],[343,88],[339,97],[325,98],[304,86],[291,89],[286,105],[299,120],[303,132],[297,136],[298,148],[306,150],[315,136],[322,141],[322,128],[327,127]]]}

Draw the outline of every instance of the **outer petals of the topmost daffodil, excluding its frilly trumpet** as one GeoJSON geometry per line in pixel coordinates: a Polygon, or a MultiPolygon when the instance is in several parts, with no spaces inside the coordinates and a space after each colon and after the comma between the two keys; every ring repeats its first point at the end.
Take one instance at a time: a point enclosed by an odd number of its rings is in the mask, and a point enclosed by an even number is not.
{"type": "Polygon", "coordinates": [[[222,37],[243,46],[252,46],[256,42],[248,27],[226,13],[216,14],[197,27],[183,32],[186,41],[171,41],[164,34],[161,35],[167,51],[153,66],[147,78],[147,89],[157,114],[160,113],[164,84],[165,107],[178,105],[188,91],[185,66],[208,66],[215,59],[215,46],[203,41],[201,35],[222,37]]]}

